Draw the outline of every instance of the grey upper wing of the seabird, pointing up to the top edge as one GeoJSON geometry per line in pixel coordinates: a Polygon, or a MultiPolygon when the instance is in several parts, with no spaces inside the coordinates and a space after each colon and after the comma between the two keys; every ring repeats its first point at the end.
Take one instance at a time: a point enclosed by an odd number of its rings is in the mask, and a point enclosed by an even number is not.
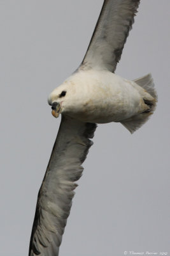
{"type": "Polygon", "coordinates": [[[80,68],[115,72],[140,0],[105,0],[80,68]]]}

